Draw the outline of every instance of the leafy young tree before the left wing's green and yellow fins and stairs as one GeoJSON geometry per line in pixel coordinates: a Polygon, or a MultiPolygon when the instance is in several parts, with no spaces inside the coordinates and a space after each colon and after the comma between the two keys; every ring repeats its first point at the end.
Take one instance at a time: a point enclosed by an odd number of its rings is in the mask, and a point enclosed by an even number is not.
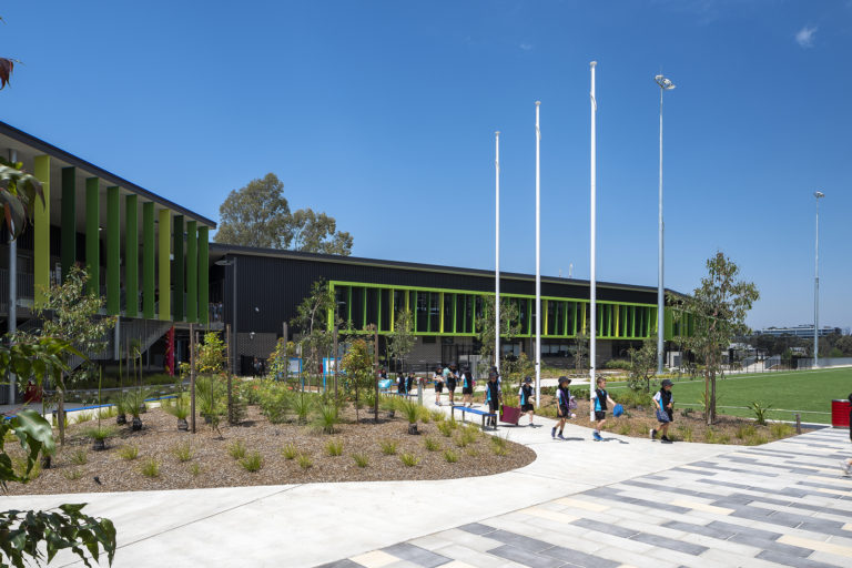
{"type": "MultiPolygon", "coordinates": [[[[97,354],[106,348],[108,334],[115,326],[115,317],[99,315],[104,304],[103,297],[90,294],[87,282],[89,274],[72,266],[65,282],[54,284],[45,291],[44,302],[36,306],[34,313],[43,322],[42,336],[68,342],[84,354],[97,354]]],[[[65,361],[69,362],[70,358],[65,361]]],[[[91,363],[84,361],[78,369],[68,374],[67,381],[58,381],[55,384],[59,396],[59,443],[62,445],[65,443],[65,389],[84,377],[90,366],[91,363]]]]}

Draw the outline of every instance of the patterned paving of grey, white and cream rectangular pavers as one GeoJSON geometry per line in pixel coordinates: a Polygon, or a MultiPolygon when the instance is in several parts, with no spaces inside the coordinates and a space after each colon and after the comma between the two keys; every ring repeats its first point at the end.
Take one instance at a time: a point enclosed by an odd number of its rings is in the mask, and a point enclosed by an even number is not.
{"type": "MultiPolygon", "coordinates": [[[[720,453],[594,489],[557,491],[532,507],[323,568],[849,567],[852,478],[839,468],[849,449],[845,430],[825,429],[720,453]]],[[[623,466],[632,469],[630,462],[623,466]]]]}

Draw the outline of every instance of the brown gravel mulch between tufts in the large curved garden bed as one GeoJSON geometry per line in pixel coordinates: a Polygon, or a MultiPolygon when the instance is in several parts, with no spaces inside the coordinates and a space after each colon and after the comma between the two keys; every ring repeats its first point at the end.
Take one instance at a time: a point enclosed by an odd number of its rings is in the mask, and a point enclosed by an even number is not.
{"type": "MultiPolygon", "coordinates": [[[[434,422],[419,424],[419,435],[407,434],[408,424],[399,418],[387,418],[379,413],[379,423],[364,419],[355,423],[354,410],[343,413],[344,424],[333,435],[317,433],[311,426],[298,424],[270,424],[256,407],[250,406],[240,426],[221,426],[222,436],[199,418],[195,435],[179,432],[176,419],[153,408],[142,415],[144,428],[131,432],[129,426],[118,427],[106,440],[108,449],[94,452],[82,432],[94,422],[71,425],[65,446],[53,456],[52,467],[42,469],[38,478],[27,485],[10,484],[11,495],[64,494],[90,491],[138,491],[186,489],[201,487],[234,487],[251,485],[282,485],[315,481],[366,481],[392,479],[452,479],[498,474],[525,466],[535,459],[535,453],[521,445],[508,443],[506,455],[496,455],[489,436],[479,435],[476,442],[458,447],[455,437],[443,436],[434,422]],[[70,435],[69,435],[70,434],[70,435]],[[429,452],[427,438],[434,439],[440,449],[429,452]],[[229,447],[241,440],[247,454],[258,452],[263,466],[258,471],[246,471],[231,457],[229,447]],[[329,456],[329,440],[343,443],[341,456],[329,456]],[[396,455],[385,455],[382,442],[397,444],[396,455]],[[175,449],[190,444],[192,458],[181,462],[175,449]],[[293,444],[301,454],[308,456],[312,466],[303,468],[298,459],[285,459],[282,448],[293,444]],[[120,450],[136,446],[135,459],[125,460],[120,450]],[[458,462],[447,463],[444,450],[452,449],[458,462]],[[358,467],[353,454],[364,454],[367,467],[358,467]],[[419,458],[416,466],[402,463],[400,456],[410,453],[419,458]],[[85,463],[81,464],[81,457],[85,463]],[[146,477],[141,473],[145,462],[154,458],[159,475],[146,477]],[[78,462],[75,462],[75,459],[78,462]],[[97,478],[97,480],[95,480],[97,478]],[[100,483],[98,483],[100,481],[100,483]]],[[[115,419],[104,420],[113,424],[115,419]]],[[[476,428],[478,430],[478,428],[476,428]]],[[[456,430],[458,433],[459,430],[456,430]]],[[[20,446],[7,445],[13,457],[20,457],[20,446]]]]}

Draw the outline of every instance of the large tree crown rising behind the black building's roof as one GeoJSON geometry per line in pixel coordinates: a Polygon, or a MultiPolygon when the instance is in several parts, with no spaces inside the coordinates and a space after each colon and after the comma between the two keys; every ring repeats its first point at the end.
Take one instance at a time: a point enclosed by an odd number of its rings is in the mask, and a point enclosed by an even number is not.
{"type": "Polygon", "coordinates": [[[217,243],[311,253],[352,253],[352,235],[337,222],[311,209],[290,211],[284,184],[273,173],[233,190],[219,207],[217,243]]]}

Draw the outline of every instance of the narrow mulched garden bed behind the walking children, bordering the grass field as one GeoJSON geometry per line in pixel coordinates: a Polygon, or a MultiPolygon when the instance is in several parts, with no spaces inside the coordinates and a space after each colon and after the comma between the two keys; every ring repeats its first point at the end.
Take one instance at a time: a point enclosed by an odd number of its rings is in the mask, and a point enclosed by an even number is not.
{"type": "MultiPolygon", "coordinates": [[[[618,399],[613,396],[616,403],[618,399]]],[[[589,400],[577,402],[574,413],[576,418],[569,422],[577,426],[592,428],[595,423],[589,422],[589,400]]],[[[659,428],[652,407],[625,408],[626,413],[615,418],[610,410],[607,413],[605,432],[620,434],[636,438],[647,438],[651,428],[659,428]]],[[[556,418],[556,400],[551,395],[541,395],[541,408],[538,414],[556,418]]],[[[811,432],[802,427],[802,434],[811,432]]],[[[589,434],[591,435],[591,434],[589,434]]],[[[700,442],[704,444],[729,444],[741,446],[758,446],[777,439],[795,436],[795,427],[789,424],[770,423],[759,425],[755,420],[737,416],[717,415],[713,426],[708,426],[702,412],[687,412],[674,408],[674,420],[669,426],[669,438],[674,442],[700,442]]],[[[659,434],[658,434],[659,439],[659,434]]]]}

